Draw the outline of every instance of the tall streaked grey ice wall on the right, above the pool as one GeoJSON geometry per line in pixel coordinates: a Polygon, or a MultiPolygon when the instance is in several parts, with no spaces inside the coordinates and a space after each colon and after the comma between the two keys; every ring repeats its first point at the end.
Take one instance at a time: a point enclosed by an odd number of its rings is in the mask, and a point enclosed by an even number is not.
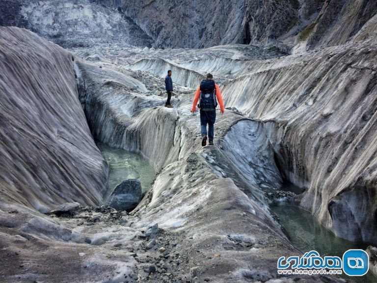
{"type": "Polygon", "coordinates": [[[227,106],[270,121],[284,177],[337,236],[376,242],[376,40],[268,60],[223,86],[227,106]]]}

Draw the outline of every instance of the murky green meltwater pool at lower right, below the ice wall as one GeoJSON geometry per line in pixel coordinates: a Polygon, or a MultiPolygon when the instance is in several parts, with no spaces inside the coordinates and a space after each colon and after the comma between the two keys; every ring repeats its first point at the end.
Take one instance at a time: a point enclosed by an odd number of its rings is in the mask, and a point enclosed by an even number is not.
{"type": "MultiPolygon", "coordinates": [[[[295,205],[281,204],[270,209],[279,217],[280,223],[286,229],[292,244],[303,253],[317,251],[321,256],[337,255],[342,258],[349,249],[365,249],[368,245],[358,245],[340,239],[322,226],[311,213],[295,205]]],[[[371,272],[362,277],[341,278],[357,283],[377,283],[377,278],[371,272]]]]}

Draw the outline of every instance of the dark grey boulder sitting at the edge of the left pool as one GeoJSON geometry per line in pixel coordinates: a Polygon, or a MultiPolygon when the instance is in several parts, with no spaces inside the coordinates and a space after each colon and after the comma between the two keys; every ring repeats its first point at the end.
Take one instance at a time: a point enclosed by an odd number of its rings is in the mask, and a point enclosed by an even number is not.
{"type": "Polygon", "coordinates": [[[139,180],[128,179],[117,185],[108,197],[107,205],[116,210],[135,208],[142,196],[139,180]]]}

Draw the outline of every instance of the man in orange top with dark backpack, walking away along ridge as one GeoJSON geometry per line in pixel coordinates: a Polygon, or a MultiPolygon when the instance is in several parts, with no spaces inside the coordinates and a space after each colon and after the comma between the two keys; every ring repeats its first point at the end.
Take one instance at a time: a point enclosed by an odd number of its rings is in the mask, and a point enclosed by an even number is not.
{"type": "Polygon", "coordinates": [[[200,132],[202,134],[202,146],[207,144],[207,124],[208,124],[208,140],[209,144],[214,144],[214,124],[216,119],[217,101],[220,104],[220,112],[224,113],[224,103],[222,102],[221,91],[213,80],[211,74],[207,74],[206,80],[203,80],[196,89],[194,102],[191,112],[196,111],[198,103],[200,109],[200,132]],[[200,99],[200,101],[199,101],[200,99]]]}

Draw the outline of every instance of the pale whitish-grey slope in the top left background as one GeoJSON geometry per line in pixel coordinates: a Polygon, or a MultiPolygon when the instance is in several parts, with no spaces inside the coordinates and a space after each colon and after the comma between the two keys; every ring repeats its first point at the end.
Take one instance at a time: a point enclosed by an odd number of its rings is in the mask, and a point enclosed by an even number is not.
{"type": "Polygon", "coordinates": [[[3,0],[0,25],[27,28],[64,48],[144,47],[153,42],[117,7],[89,0],[3,0]]]}

